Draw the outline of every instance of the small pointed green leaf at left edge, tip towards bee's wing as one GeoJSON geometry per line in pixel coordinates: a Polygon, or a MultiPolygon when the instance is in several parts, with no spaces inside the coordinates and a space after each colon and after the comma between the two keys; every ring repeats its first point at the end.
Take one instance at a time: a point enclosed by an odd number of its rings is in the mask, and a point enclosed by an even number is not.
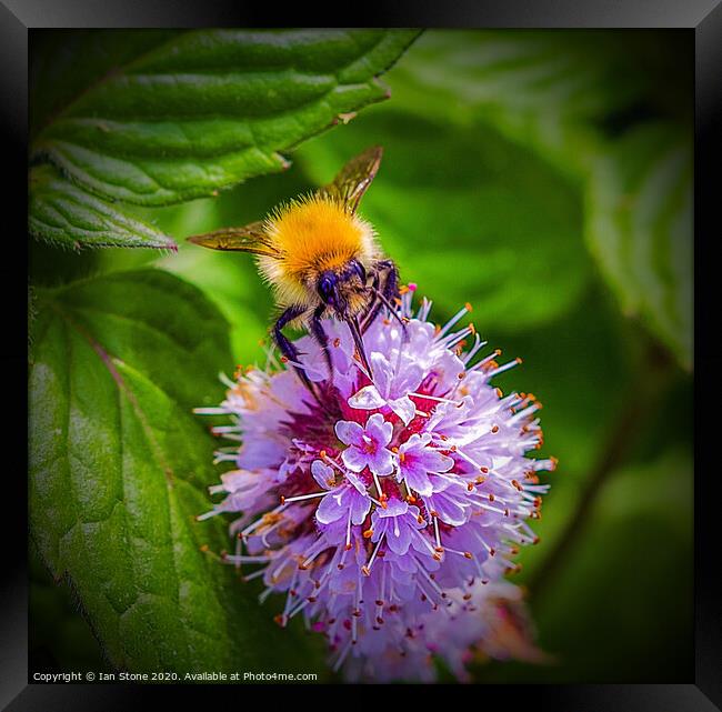
{"type": "Polygon", "coordinates": [[[160,230],[89,194],[50,166],[30,172],[28,229],[53,245],[73,250],[176,249],[176,242],[160,230]]]}

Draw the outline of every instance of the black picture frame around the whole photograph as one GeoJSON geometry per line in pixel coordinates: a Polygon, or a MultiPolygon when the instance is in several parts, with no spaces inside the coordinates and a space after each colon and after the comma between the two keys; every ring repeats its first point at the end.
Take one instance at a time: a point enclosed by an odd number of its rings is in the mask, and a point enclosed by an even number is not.
{"type": "MultiPolygon", "coordinates": [[[[0,589],[0,706],[21,710],[126,710],[169,704],[168,694],[178,688],[136,685],[28,684],[27,640],[27,453],[18,447],[26,433],[27,412],[27,280],[18,262],[27,261],[27,188],[18,180],[27,162],[28,33],[32,28],[112,27],[268,27],[272,12],[263,17],[229,0],[202,3],[179,0],[0,0],[0,116],[4,138],[4,172],[8,190],[17,191],[3,210],[3,251],[0,283],[7,292],[3,304],[2,374],[10,389],[10,417],[3,428],[3,566],[0,589]],[[14,252],[14,254],[13,254],[14,252]],[[16,257],[18,259],[16,259],[16,257]],[[18,513],[13,517],[12,513],[18,513]]],[[[365,4],[364,9],[369,9],[365,4]]],[[[351,8],[353,10],[353,8],[351,8]]],[[[272,18],[278,21],[278,17],[272,18]]],[[[351,24],[349,18],[313,14],[311,10],[283,13],[287,26],[351,24]],[[333,22],[331,22],[333,21],[333,22]]],[[[720,0],[505,0],[505,2],[457,0],[454,3],[395,2],[379,7],[371,19],[354,18],[357,24],[384,27],[485,27],[485,28],[686,28],[695,44],[695,665],[686,684],[545,685],[519,686],[520,704],[544,702],[562,710],[674,710],[712,711],[722,706],[722,589],[714,562],[719,544],[713,528],[719,497],[714,491],[712,448],[715,421],[696,408],[713,401],[719,392],[722,355],[715,351],[713,329],[719,321],[713,272],[714,237],[720,235],[715,210],[715,168],[720,164],[720,116],[722,110],[722,3],[720,0]],[[716,228],[716,229],[715,229],[716,228]],[[708,464],[710,467],[705,467],[708,464]],[[704,477],[702,477],[704,475],[704,477]]],[[[7,195],[7,193],[6,193],[7,195]]],[[[718,292],[719,294],[719,292],[718,292]]],[[[7,413],[8,413],[7,411],[7,413]]],[[[673,575],[673,572],[670,573],[673,575]]],[[[663,625],[664,621],[660,621],[663,625]]],[[[511,699],[509,691],[502,693],[511,699]]],[[[182,694],[188,688],[182,689],[182,694]]],[[[238,700],[238,698],[237,698],[238,700]]]]}

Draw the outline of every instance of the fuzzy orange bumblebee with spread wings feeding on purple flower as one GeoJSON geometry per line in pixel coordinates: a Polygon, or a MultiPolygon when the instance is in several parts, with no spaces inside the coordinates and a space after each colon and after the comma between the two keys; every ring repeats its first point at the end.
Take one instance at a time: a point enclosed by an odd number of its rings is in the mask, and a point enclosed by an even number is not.
{"type": "MultiPolygon", "coordinates": [[[[367,149],[331,183],[280,205],[264,220],[188,238],[213,250],[255,255],[259,271],[282,310],[272,329],[273,338],[291,362],[298,363],[299,352],[283,328],[302,323],[323,350],[332,373],[322,320],[334,318],[349,325],[359,359],[372,375],[361,334],[383,305],[395,317],[399,298],[398,269],[381,252],[373,227],[357,213],[379,170],[382,152],[378,146],[367,149]]],[[[295,370],[315,393],[305,372],[298,367],[295,370]]]]}

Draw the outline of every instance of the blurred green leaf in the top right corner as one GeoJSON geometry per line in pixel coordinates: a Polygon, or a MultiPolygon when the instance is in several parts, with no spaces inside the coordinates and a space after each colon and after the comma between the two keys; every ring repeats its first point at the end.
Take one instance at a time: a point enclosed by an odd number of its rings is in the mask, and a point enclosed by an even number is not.
{"type": "Polygon", "coordinates": [[[691,64],[678,61],[684,49],[679,33],[437,30],[414,43],[389,83],[397,104],[445,122],[493,126],[579,177],[620,122],[689,118],[691,64]]]}

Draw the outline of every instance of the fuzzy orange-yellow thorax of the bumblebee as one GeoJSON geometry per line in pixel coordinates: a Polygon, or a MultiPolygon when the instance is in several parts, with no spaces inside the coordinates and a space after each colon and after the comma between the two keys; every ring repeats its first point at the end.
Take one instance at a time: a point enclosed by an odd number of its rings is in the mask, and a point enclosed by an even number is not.
{"type": "Polygon", "coordinates": [[[282,304],[307,303],[321,272],[341,271],[349,260],[364,265],[377,257],[373,229],[339,202],[320,195],[293,201],[265,222],[279,258],[259,258],[259,268],[282,304]]]}

